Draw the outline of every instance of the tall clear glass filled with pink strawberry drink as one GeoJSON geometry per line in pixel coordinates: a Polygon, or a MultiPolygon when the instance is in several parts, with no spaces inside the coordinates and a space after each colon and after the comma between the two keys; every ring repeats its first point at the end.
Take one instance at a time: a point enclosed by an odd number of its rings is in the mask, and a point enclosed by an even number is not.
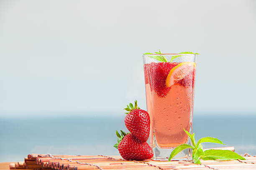
{"type": "MultiPolygon", "coordinates": [[[[149,144],[155,160],[168,158],[178,145],[190,145],[183,128],[192,133],[196,60],[196,54],[143,55],[149,144]]],[[[174,159],[190,160],[191,150],[174,159]]]]}

